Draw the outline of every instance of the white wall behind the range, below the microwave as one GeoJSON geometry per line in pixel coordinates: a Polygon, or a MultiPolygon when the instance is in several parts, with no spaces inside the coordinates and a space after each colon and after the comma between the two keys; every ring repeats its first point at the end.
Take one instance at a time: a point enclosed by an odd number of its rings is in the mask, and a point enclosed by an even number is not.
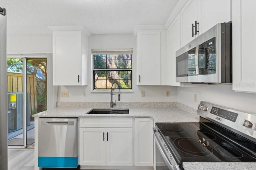
{"type": "Polygon", "coordinates": [[[177,102],[196,109],[200,101],[256,113],[256,94],[234,92],[230,84],[177,88],[177,102]],[[194,94],[197,94],[198,102],[194,102],[194,94]]]}

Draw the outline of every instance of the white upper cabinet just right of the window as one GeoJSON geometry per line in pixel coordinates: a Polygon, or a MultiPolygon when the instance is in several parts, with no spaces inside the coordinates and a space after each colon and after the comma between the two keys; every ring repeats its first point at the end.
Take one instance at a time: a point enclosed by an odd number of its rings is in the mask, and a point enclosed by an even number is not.
{"type": "Polygon", "coordinates": [[[168,85],[167,31],[137,31],[137,85],[168,85]]]}

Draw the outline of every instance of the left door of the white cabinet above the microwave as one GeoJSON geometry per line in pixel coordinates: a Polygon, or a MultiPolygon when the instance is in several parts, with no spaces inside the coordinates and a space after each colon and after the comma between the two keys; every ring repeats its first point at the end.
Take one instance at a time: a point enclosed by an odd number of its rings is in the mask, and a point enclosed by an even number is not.
{"type": "MultiPolygon", "coordinates": [[[[199,6],[200,2],[197,0],[189,0],[185,6],[180,11],[180,37],[181,37],[181,47],[192,41],[196,36],[192,37],[192,23],[195,21],[201,24],[200,21],[198,21],[198,12],[199,12],[199,6]]],[[[198,25],[196,25],[198,28],[198,25]]],[[[195,32],[195,29],[194,29],[195,32]]],[[[199,32],[200,33],[200,32],[199,32]]],[[[199,34],[197,33],[197,34],[199,34]]]]}

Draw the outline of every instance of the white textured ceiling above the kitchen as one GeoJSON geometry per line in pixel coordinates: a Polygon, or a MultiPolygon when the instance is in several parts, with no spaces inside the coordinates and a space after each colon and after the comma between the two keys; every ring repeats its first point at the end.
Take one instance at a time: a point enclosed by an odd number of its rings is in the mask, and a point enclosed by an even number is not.
{"type": "Polygon", "coordinates": [[[47,26],[84,25],[92,34],[164,25],[178,0],[0,0],[10,35],[52,34],[47,26]]]}

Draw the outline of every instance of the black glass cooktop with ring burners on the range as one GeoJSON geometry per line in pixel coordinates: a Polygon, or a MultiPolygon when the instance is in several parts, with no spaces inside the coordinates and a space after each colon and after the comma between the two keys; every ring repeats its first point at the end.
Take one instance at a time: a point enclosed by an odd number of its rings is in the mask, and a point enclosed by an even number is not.
{"type": "Polygon", "coordinates": [[[255,141],[203,122],[200,117],[200,123],[156,123],[177,162],[256,162],[255,141]]]}

